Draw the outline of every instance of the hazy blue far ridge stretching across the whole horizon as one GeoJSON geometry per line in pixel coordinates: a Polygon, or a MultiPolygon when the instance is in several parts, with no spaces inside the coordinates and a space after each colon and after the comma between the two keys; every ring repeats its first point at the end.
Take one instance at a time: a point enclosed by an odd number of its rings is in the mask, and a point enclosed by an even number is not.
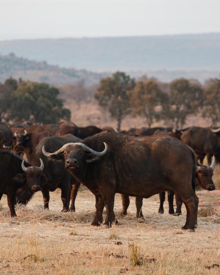
{"type": "Polygon", "coordinates": [[[66,68],[115,70],[220,69],[220,33],[0,41],[0,54],[66,68]]]}

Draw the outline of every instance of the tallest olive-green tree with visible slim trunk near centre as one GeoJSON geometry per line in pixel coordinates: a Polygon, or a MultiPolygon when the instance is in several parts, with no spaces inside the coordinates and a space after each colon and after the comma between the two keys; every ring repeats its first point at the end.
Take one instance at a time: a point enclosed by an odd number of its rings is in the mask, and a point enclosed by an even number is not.
{"type": "Polygon", "coordinates": [[[95,98],[117,119],[117,130],[121,129],[122,119],[130,112],[129,94],[134,88],[134,79],[124,72],[117,71],[112,77],[100,80],[95,98]]]}

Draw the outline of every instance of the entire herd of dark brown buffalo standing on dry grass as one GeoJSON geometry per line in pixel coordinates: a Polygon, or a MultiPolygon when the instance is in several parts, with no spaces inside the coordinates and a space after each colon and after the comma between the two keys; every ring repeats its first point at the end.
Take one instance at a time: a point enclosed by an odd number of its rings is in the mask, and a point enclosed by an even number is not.
{"type": "Polygon", "coordinates": [[[62,211],[75,211],[77,191],[83,184],[96,200],[91,225],[107,228],[118,223],[116,193],[122,197],[123,215],[127,215],[129,196],[135,196],[137,218],[143,218],[143,198],[159,193],[158,212],[163,214],[167,191],[169,213],[180,215],[183,202],[187,214],[182,229],[191,232],[197,227],[196,185],[215,189],[212,176],[215,163],[220,162],[220,128],[142,127],[117,133],[111,127],[77,127],[72,122],[11,127],[0,123],[0,147],[0,199],[7,195],[12,217],[15,204],[26,205],[37,191],[49,209],[50,192],[57,188],[62,211]],[[208,166],[203,165],[205,156],[208,166]]]}

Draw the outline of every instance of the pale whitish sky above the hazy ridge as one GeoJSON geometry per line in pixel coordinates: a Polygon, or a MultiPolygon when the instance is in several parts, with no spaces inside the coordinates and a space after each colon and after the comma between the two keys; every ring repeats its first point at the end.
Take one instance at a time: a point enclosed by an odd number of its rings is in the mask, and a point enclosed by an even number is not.
{"type": "Polygon", "coordinates": [[[0,40],[220,32],[220,0],[0,0],[0,40]]]}

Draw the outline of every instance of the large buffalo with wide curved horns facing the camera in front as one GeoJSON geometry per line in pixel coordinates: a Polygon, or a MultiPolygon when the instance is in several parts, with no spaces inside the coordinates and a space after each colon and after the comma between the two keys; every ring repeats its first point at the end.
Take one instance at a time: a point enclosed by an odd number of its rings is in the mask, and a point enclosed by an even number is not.
{"type": "Polygon", "coordinates": [[[104,131],[81,143],[68,143],[45,156],[64,162],[65,168],[96,196],[96,214],[92,225],[104,227],[116,222],[115,193],[150,196],[164,191],[177,192],[187,209],[183,229],[197,227],[196,156],[183,142],[172,137],[133,137],[104,131]],[[105,149],[103,150],[103,143],[105,149]],[[101,151],[101,152],[100,152],[101,151]]]}

